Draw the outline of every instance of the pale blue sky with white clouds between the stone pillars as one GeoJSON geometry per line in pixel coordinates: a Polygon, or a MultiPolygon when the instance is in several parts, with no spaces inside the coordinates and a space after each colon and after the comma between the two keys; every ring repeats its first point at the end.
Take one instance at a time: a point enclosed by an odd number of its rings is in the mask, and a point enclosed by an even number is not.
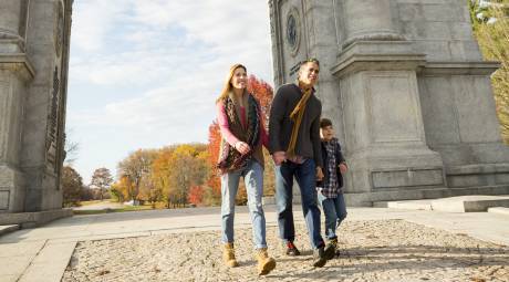
{"type": "Polygon", "coordinates": [[[136,149],[207,143],[237,62],[273,84],[266,0],[74,1],[66,134],[84,184],[136,149]]]}

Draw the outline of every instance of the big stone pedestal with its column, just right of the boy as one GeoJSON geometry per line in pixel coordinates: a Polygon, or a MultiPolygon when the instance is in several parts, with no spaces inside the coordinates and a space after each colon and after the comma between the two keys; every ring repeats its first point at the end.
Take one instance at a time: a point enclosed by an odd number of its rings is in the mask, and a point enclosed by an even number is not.
{"type": "Polygon", "coordinates": [[[442,157],[426,145],[417,83],[425,55],[394,29],[389,0],[344,0],[340,9],[345,35],[332,72],[345,105],[347,199],[368,206],[386,191],[446,187],[442,157]],[[370,195],[366,203],[355,194],[370,195]]]}

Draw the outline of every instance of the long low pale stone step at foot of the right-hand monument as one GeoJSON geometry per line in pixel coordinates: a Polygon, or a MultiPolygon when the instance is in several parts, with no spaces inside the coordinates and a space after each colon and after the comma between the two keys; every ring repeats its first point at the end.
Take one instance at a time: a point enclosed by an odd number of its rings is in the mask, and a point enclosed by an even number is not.
{"type": "MultiPolygon", "coordinates": [[[[438,210],[446,212],[479,212],[492,207],[509,208],[509,195],[470,195],[436,200],[404,200],[375,202],[374,206],[408,210],[438,210]]],[[[495,211],[496,212],[496,211],[495,211]]]]}

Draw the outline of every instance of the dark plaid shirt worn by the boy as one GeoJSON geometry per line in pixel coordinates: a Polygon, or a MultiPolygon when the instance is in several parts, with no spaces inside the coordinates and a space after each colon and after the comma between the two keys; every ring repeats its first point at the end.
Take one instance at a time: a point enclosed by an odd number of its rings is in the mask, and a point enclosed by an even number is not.
{"type": "Polygon", "coordinates": [[[342,194],[342,188],[339,187],[337,184],[337,159],[336,159],[336,146],[337,139],[333,138],[330,142],[324,142],[326,155],[328,155],[328,163],[326,168],[329,170],[329,179],[323,179],[323,187],[320,189],[323,196],[326,198],[336,198],[339,194],[342,194]]]}

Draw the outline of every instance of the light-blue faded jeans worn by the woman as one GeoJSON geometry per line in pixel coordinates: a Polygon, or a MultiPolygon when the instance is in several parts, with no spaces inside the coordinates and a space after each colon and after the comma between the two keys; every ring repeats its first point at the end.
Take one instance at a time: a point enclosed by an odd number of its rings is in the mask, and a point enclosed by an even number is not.
{"type": "Polygon", "coordinates": [[[221,176],[221,240],[233,242],[235,198],[243,177],[248,194],[248,207],[251,216],[252,241],[257,249],[267,248],[266,216],[261,205],[263,196],[263,168],[256,160],[249,161],[246,168],[221,176]]]}

